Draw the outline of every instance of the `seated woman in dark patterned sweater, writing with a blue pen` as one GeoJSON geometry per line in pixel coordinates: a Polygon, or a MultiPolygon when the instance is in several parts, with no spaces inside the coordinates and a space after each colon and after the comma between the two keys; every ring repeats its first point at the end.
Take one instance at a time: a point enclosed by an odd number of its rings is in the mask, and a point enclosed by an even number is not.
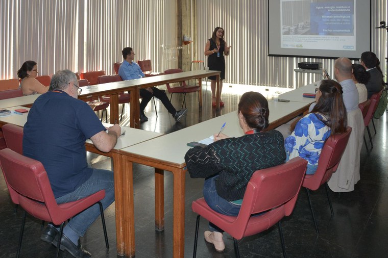
{"type": "MultiPolygon", "coordinates": [[[[238,103],[238,119],[244,136],[230,138],[214,135],[206,148],[189,149],[185,156],[191,177],[204,177],[204,198],[211,209],[237,216],[252,174],[259,169],[284,163],[284,139],[280,132],[268,127],[268,101],[258,92],[247,92],[238,103]]],[[[209,223],[205,240],[217,251],[223,251],[223,230],[209,223]]]]}

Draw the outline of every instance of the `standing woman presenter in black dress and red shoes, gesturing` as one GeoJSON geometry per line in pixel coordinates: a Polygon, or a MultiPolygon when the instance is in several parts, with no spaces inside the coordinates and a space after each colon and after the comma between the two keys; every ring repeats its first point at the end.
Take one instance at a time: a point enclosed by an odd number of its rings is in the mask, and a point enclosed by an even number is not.
{"type": "MultiPolygon", "coordinates": [[[[222,81],[225,79],[225,56],[229,55],[230,47],[224,40],[224,29],[216,27],[213,31],[211,38],[206,42],[205,45],[205,56],[208,56],[207,66],[209,70],[221,71],[220,76],[220,94],[222,91],[222,81]]],[[[215,107],[215,84],[216,76],[209,76],[211,86],[211,102],[212,106],[215,107]]],[[[220,106],[224,106],[224,102],[220,99],[220,106]]]]}

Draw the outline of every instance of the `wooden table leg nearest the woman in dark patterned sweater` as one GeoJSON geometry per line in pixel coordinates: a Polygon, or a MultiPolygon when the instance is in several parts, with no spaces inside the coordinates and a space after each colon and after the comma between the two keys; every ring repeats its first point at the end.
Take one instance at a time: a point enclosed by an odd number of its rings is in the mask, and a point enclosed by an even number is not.
{"type": "Polygon", "coordinates": [[[185,251],[185,169],[174,175],[174,258],[184,257],[185,251]]]}

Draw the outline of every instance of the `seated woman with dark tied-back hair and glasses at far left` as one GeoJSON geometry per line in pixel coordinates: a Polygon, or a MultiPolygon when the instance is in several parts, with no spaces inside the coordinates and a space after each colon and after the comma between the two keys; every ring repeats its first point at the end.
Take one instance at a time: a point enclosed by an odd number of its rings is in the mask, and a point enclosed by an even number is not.
{"type": "Polygon", "coordinates": [[[24,62],[17,71],[17,76],[21,79],[20,88],[24,95],[47,92],[48,87],[35,79],[38,76],[38,72],[38,64],[31,60],[24,62]]]}

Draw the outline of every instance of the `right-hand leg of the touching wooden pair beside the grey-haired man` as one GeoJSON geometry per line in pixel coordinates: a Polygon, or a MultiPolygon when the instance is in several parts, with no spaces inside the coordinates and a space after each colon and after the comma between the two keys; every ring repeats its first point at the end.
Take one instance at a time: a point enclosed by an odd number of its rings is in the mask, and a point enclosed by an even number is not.
{"type": "MultiPolygon", "coordinates": [[[[123,177],[123,235],[125,241],[125,255],[135,257],[135,220],[133,204],[133,163],[122,158],[123,177]]],[[[117,200],[116,200],[117,205],[117,200]]]]}

